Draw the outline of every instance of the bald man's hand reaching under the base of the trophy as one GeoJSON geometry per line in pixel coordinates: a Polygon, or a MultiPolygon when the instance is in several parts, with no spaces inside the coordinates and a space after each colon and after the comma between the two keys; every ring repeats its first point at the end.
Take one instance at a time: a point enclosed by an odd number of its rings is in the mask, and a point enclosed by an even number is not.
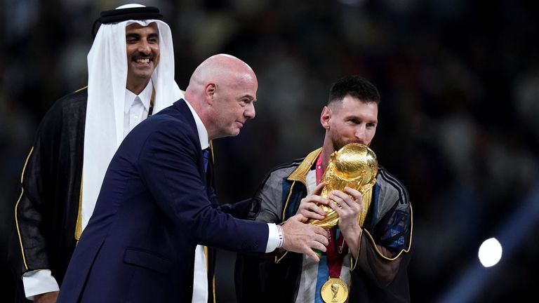
{"type": "Polygon", "coordinates": [[[312,248],[326,251],[328,233],[321,227],[305,224],[307,217],[296,214],[281,225],[284,234],[283,248],[294,253],[302,253],[319,262],[320,258],[312,248]]]}

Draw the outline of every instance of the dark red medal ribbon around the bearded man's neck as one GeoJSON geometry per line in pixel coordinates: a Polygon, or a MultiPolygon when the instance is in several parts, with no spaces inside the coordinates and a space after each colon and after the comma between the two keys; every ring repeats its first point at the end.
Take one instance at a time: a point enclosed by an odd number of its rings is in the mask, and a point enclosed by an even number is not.
{"type": "MultiPolygon", "coordinates": [[[[322,176],[324,175],[324,168],[322,168],[322,153],[319,154],[316,164],[317,173],[317,185],[320,184],[322,176]]],[[[328,230],[329,244],[326,247],[326,256],[328,257],[328,269],[329,276],[331,278],[340,278],[340,269],[342,268],[342,261],[345,260],[345,255],[348,253],[348,245],[346,244],[345,237],[338,231],[337,227],[333,227],[328,230]],[[335,237],[337,243],[335,243],[335,237]]]]}

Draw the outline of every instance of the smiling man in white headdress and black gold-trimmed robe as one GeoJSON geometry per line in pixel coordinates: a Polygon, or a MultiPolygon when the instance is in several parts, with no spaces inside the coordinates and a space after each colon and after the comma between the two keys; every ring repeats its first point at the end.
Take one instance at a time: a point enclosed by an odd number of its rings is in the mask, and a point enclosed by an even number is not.
{"type": "Polygon", "coordinates": [[[158,8],[104,11],[94,23],[88,86],[55,102],[22,170],[8,259],[20,302],[55,302],[124,137],[183,95],[174,81],[171,29],[158,8]],[[84,168],[84,169],[83,169],[84,168]]]}

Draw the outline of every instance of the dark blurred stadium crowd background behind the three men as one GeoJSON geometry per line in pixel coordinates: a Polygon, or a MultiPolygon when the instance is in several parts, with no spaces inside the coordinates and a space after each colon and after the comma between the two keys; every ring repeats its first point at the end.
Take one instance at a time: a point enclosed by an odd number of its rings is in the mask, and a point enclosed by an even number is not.
{"type": "MultiPolygon", "coordinates": [[[[56,99],[86,86],[91,26],[100,11],[128,2],[0,2],[3,278],[11,279],[6,234],[39,121],[56,99]]],[[[319,115],[331,83],[360,74],[382,95],[371,147],[411,196],[412,301],[535,297],[539,2],[138,3],[159,7],[171,26],[180,88],[215,53],[236,55],[258,75],[256,119],[238,137],[214,142],[222,203],[248,198],[272,167],[320,147],[319,115]],[[491,237],[503,255],[482,267],[479,245],[491,237]]],[[[235,300],[234,258],[220,254],[218,302],[235,300]]],[[[11,295],[12,284],[4,285],[11,295]]]]}

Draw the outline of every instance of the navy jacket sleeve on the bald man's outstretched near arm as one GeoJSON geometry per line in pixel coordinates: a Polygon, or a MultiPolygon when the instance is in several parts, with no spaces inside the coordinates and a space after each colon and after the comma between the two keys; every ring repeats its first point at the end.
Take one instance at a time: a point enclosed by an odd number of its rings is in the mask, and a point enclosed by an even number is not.
{"type": "Polygon", "coordinates": [[[267,224],[235,219],[211,206],[196,134],[163,123],[143,143],[140,175],[159,207],[186,229],[192,241],[243,253],[264,253],[267,224]]]}

